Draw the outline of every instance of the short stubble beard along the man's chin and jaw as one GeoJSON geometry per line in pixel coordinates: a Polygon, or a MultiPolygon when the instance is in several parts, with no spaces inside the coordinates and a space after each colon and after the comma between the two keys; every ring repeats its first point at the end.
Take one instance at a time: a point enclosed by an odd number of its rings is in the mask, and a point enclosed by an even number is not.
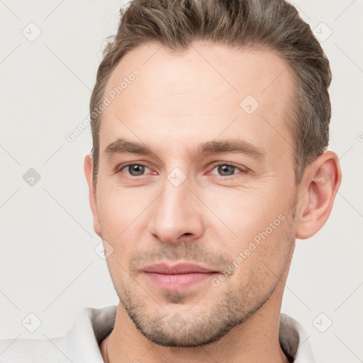
{"type": "Polygon", "coordinates": [[[294,252],[296,203],[297,199],[291,207],[289,218],[286,218],[289,225],[281,235],[281,242],[291,245],[291,248],[286,248],[285,254],[280,256],[278,272],[272,272],[262,261],[250,274],[245,286],[230,288],[227,285],[228,279],[223,281],[226,283],[224,290],[210,285],[195,305],[190,303],[190,296],[183,291],[163,291],[162,299],[155,298],[152,294],[147,294],[145,289],[140,289],[131,275],[127,286],[118,284],[120,289],[116,288],[113,281],[123,308],[140,333],[151,342],[164,347],[200,347],[220,340],[230,330],[244,323],[264,306],[279,283],[287,277],[294,252]],[[267,274],[270,275],[268,286],[265,283],[267,274]],[[141,291],[143,295],[140,296],[137,291],[141,291]],[[206,308],[205,299],[208,301],[208,298],[216,301],[210,308],[206,308]],[[166,306],[165,301],[167,309],[162,306],[166,306]],[[191,308],[186,309],[186,303],[191,308]]]}

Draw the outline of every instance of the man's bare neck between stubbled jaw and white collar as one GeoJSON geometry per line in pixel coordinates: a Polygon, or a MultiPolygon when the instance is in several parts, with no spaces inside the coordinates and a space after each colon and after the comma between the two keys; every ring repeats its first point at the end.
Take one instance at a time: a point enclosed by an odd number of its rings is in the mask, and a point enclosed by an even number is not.
{"type": "Polygon", "coordinates": [[[118,304],[113,331],[101,344],[104,362],[196,363],[274,362],[288,360],[279,345],[279,315],[284,291],[281,282],[264,306],[220,340],[202,347],[163,347],[150,342],[118,304]],[[106,357],[106,344],[107,356],[106,357]]]}

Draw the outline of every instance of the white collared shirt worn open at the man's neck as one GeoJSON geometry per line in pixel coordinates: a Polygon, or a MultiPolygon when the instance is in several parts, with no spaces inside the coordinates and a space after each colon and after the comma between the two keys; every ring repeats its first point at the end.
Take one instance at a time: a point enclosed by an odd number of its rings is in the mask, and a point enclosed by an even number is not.
{"type": "MultiPolygon", "coordinates": [[[[111,333],[117,306],[84,308],[64,337],[0,340],[0,363],[104,363],[99,344],[111,333]]],[[[297,354],[294,363],[315,363],[303,327],[290,316],[280,315],[280,345],[297,354]]]]}

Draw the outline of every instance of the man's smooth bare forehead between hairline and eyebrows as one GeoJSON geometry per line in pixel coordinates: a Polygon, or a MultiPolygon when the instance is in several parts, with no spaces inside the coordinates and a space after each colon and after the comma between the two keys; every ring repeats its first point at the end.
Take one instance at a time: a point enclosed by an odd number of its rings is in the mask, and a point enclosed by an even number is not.
{"type": "Polygon", "coordinates": [[[173,135],[193,140],[191,129],[195,136],[216,138],[216,131],[236,118],[224,136],[240,130],[256,143],[276,144],[281,138],[292,144],[285,123],[293,89],[286,62],[269,50],[194,43],[172,52],[147,43],[126,53],[106,84],[111,104],[102,115],[101,151],[117,129],[120,137],[128,133],[150,142],[152,136],[160,142],[173,135]],[[274,140],[263,140],[269,135],[274,140]]]}

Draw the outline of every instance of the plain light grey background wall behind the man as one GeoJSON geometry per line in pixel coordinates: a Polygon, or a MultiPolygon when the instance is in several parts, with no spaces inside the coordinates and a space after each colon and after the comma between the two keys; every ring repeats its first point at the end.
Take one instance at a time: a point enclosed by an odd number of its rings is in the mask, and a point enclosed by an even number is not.
{"type": "MultiPolygon", "coordinates": [[[[0,1],[0,338],[64,335],[82,308],[118,303],[94,252],[83,172],[91,130],[72,143],[65,135],[88,116],[101,50],[124,4],[0,1]],[[30,22],[42,32],[33,42],[22,33],[36,34],[30,22]],[[30,168],[41,176],[34,186],[23,180],[30,168]],[[29,313],[42,322],[34,333],[22,325],[29,313]]],[[[294,4],[320,38],[333,31],[322,45],[333,71],[330,150],[343,177],[328,223],[297,241],[282,311],[303,324],[318,362],[363,362],[363,1],[294,4]]]]}

